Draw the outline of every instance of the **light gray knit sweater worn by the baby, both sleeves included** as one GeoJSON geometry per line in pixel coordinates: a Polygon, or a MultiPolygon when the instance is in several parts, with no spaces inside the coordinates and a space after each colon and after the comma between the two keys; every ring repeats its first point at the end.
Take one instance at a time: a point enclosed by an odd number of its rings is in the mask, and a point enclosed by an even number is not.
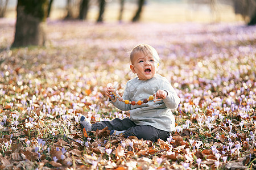
{"type": "Polygon", "coordinates": [[[138,77],[127,82],[123,99],[129,101],[143,101],[158,90],[166,90],[168,96],[161,101],[148,101],[142,105],[125,104],[122,101],[110,101],[121,111],[130,112],[130,120],[137,125],[151,125],[156,129],[173,131],[175,118],[171,109],[176,109],[180,103],[174,88],[163,76],[156,74],[149,80],[139,80],[138,77]]]}

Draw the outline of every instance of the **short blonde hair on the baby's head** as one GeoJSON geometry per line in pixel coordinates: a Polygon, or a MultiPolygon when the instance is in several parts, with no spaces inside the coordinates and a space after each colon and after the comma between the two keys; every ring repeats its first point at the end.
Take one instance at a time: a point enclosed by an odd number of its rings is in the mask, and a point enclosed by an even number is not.
{"type": "Polygon", "coordinates": [[[130,52],[131,63],[133,62],[133,56],[134,56],[134,53],[136,53],[136,52],[142,52],[145,56],[150,54],[152,57],[154,57],[154,59],[156,60],[157,63],[160,63],[160,58],[158,56],[158,52],[156,52],[156,50],[148,44],[139,44],[131,50],[131,52],[130,52]]]}

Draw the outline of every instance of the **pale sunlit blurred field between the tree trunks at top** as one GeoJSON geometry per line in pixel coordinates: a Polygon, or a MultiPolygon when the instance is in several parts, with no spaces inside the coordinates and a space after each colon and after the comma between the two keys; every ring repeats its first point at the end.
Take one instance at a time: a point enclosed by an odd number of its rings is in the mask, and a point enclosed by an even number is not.
{"type": "MultiPolygon", "coordinates": [[[[97,21],[104,8],[102,21],[130,22],[142,4],[141,22],[250,22],[255,13],[255,0],[53,0],[49,1],[49,19],[81,19],[81,7],[86,5],[88,21],[97,21]],[[85,4],[88,3],[88,4],[85,4]]],[[[17,0],[0,0],[0,17],[16,18],[17,0]]]]}

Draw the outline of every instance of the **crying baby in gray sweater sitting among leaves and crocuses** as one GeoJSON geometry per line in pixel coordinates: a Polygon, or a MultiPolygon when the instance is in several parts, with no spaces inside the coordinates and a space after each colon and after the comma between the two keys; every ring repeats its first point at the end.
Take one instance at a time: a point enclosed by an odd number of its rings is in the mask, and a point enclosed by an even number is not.
{"type": "Polygon", "coordinates": [[[130,117],[90,124],[85,116],[81,116],[82,128],[86,131],[96,131],[108,126],[110,135],[122,134],[125,137],[135,136],[150,141],[157,141],[160,138],[166,141],[170,132],[175,129],[175,118],[171,109],[178,107],[180,98],[168,80],[156,74],[159,61],[158,53],[152,46],[135,46],[130,53],[130,69],[137,77],[127,82],[123,100],[114,100],[115,96],[112,94],[115,90],[112,86],[106,90],[110,103],[122,111],[129,111],[130,117]],[[162,100],[148,100],[148,97],[154,94],[156,99],[162,100]],[[126,104],[124,100],[134,102],[126,104]]]}

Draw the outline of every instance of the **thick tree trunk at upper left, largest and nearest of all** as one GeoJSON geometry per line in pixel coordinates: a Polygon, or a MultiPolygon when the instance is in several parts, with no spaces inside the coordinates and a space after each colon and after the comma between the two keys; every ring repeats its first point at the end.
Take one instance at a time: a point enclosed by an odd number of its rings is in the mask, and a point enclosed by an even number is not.
{"type": "Polygon", "coordinates": [[[12,47],[44,45],[48,0],[18,0],[12,47]]]}

